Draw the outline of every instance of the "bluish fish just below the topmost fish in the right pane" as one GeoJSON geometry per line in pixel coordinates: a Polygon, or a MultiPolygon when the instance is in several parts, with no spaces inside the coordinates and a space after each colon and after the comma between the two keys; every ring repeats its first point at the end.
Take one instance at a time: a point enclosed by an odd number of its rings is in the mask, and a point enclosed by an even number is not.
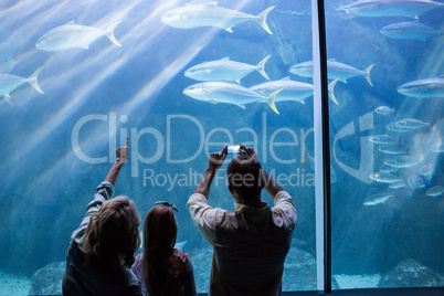
{"type": "Polygon", "coordinates": [[[379,32],[388,38],[426,40],[433,35],[442,35],[431,27],[417,22],[398,22],[382,28],[379,32]]]}

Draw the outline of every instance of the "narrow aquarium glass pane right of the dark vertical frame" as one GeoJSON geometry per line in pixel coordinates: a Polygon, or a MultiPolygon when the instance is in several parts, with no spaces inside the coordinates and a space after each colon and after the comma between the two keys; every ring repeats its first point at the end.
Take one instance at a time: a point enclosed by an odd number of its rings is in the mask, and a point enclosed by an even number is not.
{"type": "Polygon", "coordinates": [[[443,12],[326,1],[336,288],[443,286],[443,12]]]}

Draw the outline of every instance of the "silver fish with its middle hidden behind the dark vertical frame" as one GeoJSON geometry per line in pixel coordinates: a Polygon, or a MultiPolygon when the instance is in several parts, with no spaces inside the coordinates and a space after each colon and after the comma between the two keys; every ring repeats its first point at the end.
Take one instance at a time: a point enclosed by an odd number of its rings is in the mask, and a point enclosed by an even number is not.
{"type": "MultiPolygon", "coordinates": [[[[327,75],[329,80],[336,80],[338,78],[341,82],[347,83],[348,78],[355,77],[355,76],[364,76],[368,83],[371,84],[370,81],[370,71],[374,66],[374,64],[371,64],[368,66],[364,71],[358,70],[356,67],[328,60],[327,61],[327,75]]],[[[304,62],[296,64],[289,68],[289,73],[303,76],[303,77],[310,77],[313,78],[313,61],[304,62]]]]}

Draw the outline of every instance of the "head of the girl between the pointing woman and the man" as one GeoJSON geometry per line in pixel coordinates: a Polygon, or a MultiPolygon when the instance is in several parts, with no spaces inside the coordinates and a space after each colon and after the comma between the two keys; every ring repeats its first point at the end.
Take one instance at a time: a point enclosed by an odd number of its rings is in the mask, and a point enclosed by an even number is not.
{"type": "Polygon", "coordinates": [[[172,252],[178,234],[172,209],[166,204],[151,208],[144,221],[144,253],[148,250],[172,252]]]}

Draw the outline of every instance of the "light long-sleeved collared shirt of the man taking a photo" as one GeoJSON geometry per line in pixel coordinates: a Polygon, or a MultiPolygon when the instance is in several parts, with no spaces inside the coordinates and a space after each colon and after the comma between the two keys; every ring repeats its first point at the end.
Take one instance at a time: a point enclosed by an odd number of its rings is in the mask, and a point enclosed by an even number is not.
{"type": "Polygon", "coordinates": [[[211,208],[200,193],[188,200],[194,224],[214,250],[211,295],[282,294],[284,261],[297,218],[286,191],[279,191],[273,201],[273,208],[263,202],[262,209],[234,203],[232,213],[211,208]]]}

